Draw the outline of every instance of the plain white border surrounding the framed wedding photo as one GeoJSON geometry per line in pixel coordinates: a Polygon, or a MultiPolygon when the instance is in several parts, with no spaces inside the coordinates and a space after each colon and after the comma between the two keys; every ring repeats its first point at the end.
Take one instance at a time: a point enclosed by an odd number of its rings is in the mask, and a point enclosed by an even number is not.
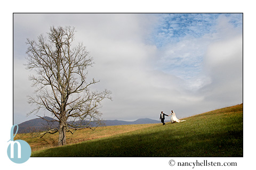
{"type": "MultiPolygon", "coordinates": [[[[252,2],[252,1],[251,1],[252,2]]],[[[1,3],[1,67],[0,113],[1,119],[1,169],[189,169],[170,166],[175,162],[237,162],[236,167],[195,167],[194,169],[241,169],[255,166],[255,14],[254,5],[246,1],[4,1],[1,3]],[[15,164],[7,157],[7,141],[13,116],[13,13],[18,12],[243,12],[244,13],[244,157],[243,158],[30,158],[24,164],[15,164]],[[64,159],[64,161],[63,161],[64,159]],[[65,163],[59,165],[59,162],[65,163]]],[[[193,169],[193,167],[191,167],[193,169]]]]}

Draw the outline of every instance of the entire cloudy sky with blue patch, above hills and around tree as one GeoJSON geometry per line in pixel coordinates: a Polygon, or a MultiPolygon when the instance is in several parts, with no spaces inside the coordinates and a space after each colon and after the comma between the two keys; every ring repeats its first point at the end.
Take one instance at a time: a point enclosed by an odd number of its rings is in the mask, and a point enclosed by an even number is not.
{"type": "MultiPolygon", "coordinates": [[[[75,44],[93,57],[93,90],[108,89],[105,120],[178,118],[243,103],[243,14],[13,14],[13,123],[27,116],[33,95],[25,69],[26,39],[54,25],[75,27],[75,44]]],[[[38,115],[50,114],[40,111],[38,115]]]]}

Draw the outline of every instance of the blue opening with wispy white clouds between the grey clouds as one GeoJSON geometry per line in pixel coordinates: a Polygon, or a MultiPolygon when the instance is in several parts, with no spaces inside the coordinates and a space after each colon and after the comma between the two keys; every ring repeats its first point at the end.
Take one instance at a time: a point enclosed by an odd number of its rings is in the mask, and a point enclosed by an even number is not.
{"type": "Polygon", "coordinates": [[[207,47],[223,38],[217,35],[220,18],[242,33],[242,14],[159,14],[158,24],[149,38],[159,49],[156,69],[188,81],[203,76],[207,47]]]}

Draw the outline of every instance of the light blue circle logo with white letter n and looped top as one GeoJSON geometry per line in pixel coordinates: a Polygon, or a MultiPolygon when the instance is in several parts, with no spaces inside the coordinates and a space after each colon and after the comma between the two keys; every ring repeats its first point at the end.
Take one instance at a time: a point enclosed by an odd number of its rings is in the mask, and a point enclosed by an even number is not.
{"type": "Polygon", "coordinates": [[[11,139],[8,141],[10,142],[8,148],[7,148],[7,155],[9,159],[17,164],[25,163],[31,156],[31,148],[29,144],[26,141],[23,140],[14,140],[13,138],[18,132],[18,125],[15,124],[12,126],[11,129],[11,139]],[[17,130],[15,134],[13,135],[14,127],[17,126],[17,130]]]}

